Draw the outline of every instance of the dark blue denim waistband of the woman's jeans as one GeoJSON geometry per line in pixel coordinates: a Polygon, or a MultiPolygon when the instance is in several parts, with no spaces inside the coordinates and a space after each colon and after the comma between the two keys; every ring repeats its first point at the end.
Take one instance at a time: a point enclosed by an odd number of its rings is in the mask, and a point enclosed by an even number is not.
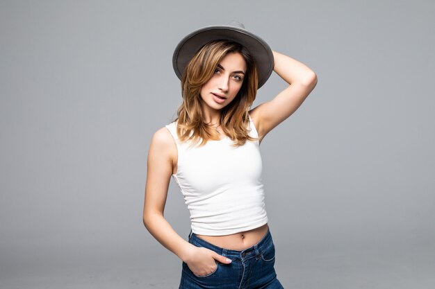
{"type": "Polygon", "coordinates": [[[205,247],[207,249],[211,249],[217,254],[225,256],[229,259],[243,259],[243,260],[252,258],[254,256],[257,257],[261,256],[262,252],[264,252],[266,249],[268,249],[270,246],[273,245],[272,234],[270,234],[269,229],[268,229],[268,233],[265,234],[265,236],[258,243],[242,251],[218,247],[216,245],[208,243],[206,240],[203,240],[202,238],[199,238],[197,235],[195,235],[192,232],[190,232],[189,235],[189,242],[192,243],[193,245],[198,245],[199,247],[205,247]]]}

